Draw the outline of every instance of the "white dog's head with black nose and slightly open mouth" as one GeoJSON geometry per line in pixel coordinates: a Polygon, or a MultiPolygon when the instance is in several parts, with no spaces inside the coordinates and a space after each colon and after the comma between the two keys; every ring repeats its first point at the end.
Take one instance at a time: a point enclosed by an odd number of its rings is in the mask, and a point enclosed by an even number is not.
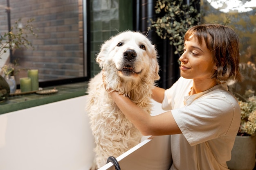
{"type": "Polygon", "coordinates": [[[101,46],[96,61],[105,72],[116,72],[124,80],[139,80],[146,74],[159,79],[157,51],[138,32],[126,31],[111,37],[101,46]]]}

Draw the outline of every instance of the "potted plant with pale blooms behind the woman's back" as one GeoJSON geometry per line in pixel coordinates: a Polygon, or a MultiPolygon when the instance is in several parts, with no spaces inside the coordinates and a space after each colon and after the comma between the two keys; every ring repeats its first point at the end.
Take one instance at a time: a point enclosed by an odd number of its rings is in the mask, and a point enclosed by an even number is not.
{"type": "Polygon", "coordinates": [[[256,149],[256,96],[253,90],[245,92],[248,98],[238,101],[241,110],[241,123],[227,162],[231,170],[252,170],[255,166],[256,149]]]}

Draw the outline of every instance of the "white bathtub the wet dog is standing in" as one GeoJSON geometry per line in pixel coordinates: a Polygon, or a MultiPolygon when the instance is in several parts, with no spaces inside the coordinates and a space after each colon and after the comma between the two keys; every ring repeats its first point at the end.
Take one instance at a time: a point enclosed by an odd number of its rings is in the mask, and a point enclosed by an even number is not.
{"type": "MultiPolygon", "coordinates": [[[[0,115],[0,170],[89,170],[94,140],[86,97],[0,115]]],[[[153,115],[161,112],[155,103],[153,115]]],[[[168,169],[169,136],[146,138],[117,157],[121,170],[168,169]]],[[[108,163],[100,170],[115,168],[108,163]]]]}

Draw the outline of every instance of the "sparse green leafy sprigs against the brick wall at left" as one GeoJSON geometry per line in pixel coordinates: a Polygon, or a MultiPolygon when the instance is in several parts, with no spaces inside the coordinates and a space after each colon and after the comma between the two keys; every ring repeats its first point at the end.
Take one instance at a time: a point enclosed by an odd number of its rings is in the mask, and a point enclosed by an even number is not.
{"type": "MultiPolygon", "coordinates": [[[[24,46],[25,48],[34,47],[32,43],[27,39],[28,35],[31,34],[35,37],[38,37],[34,33],[35,28],[31,24],[34,21],[34,18],[27,20],[25,26],[20,26],[21,18],[15,22],[14,27],[11,27],[11,31],[0,35],[0,53],[7,52],[8,49],[18,49],[24,46]]],[[[2,54],[2,53],[1,53],[2,54]]],[[[0,58],[1,59],[1,58],[0,58]]]]}

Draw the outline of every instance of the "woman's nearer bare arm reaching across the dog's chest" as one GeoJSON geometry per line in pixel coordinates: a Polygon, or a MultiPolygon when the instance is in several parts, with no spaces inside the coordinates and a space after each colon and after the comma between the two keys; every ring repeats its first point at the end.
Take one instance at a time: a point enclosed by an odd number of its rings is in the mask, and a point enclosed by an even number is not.
{"type": "Polygon", "coordinates": [[[109,95],[115,101],[126,118],[135,125],[142,135],[170,135],[181,133],[171,111],[157,116],[150,116],[146,111],[135,105],[129,98],[116,91],[109,91],[109,95]]]}

